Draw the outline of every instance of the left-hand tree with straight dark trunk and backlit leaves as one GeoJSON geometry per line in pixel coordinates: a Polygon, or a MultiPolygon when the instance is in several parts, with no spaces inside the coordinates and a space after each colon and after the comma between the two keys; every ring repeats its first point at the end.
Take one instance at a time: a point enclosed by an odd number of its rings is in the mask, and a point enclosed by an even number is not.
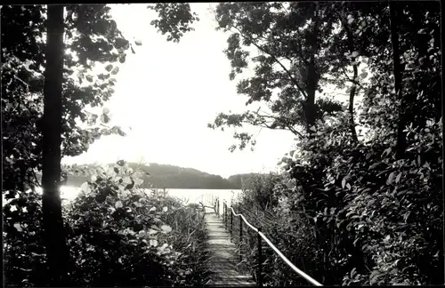
{"type": "MultiPolygon", "coordinates": [[[[167,41],[178,42],[198,20],[189,4],[148,8],[158,12],[151,25],[167,34],[167,41]]],[[[110,99],[118,63],[134,52],[134,45],[141,45],[125,39],[110,9],[107,4],[2,6],[3,194],[5,200],[15,202],[15,210],[4,212],[5,223],[12,228],[7,243],[32,244],[39,257],[44,252],[43,260],[26,255],[28,264],[43,265],[28,270],[20,264],[23,253],[8,249],[12,264],[8,284],[58,286],[74,281],[72,275],[69,279],[63,224],[68,222],[62,220],[59,191],[69,167],[61,172],[61,157],[82,154],[103,135],[125,136],[120,127],[109,125],[109,109],[96,114],[88,108],[101,107],[110,99]],[[42,170],[43,205],[36,195],[40,186],[36,173],[42,170]],[[28,209],[34,210],[36,221],[43,220],[42,226],[26,224],[31,216],[28,209]]]]}

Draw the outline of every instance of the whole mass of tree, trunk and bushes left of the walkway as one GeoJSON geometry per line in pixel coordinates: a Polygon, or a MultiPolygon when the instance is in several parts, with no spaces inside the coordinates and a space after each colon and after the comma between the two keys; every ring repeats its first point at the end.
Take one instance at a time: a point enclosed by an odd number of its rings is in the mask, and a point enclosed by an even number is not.
{"type": "MultiPolygon", "coordinates": [[[[151,24],[178,42],[198,17],[190,5],[150,4],[151,24]]],[[[114,76],[130,42],[106,4],[2,5],[4,285],[190,285],[206,279],[206,232],[195,205],[147,194],[119,161],[89,170],[83,193],[61,205],[78,156],[111,133],[114,76]],[[93,68],[103,68],[93,74],[93,68]],[[42,181],[37,174],[42,174],[42,181]],[[36,193],[41,186],[43,195],[36,193]]],[[[139,174],[138,174],[139,173],[139,174]]]]}

